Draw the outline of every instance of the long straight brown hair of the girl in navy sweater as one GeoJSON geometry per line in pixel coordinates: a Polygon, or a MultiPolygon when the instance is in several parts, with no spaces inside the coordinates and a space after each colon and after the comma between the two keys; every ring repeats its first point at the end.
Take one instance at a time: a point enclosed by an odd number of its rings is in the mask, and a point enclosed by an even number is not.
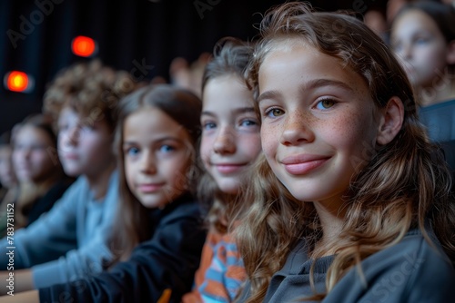
{"type": "MultiPolygon", "coordinates": [[[[126,118],[134,112],[153,107],[165,112],[170,118],[182,125],[191,138],[191,145],[187,146],[190,165],[187,170],[187,181],[179,184],[181,190],[192,191],[197,184],[199,171],[196,160],[197,142],[200,134],[200,112],[202,102],[186,89],[177,88],[169,84],[155,84],[136,90],[120,101],[117,108],[117,126],[115,146],[119,171],[119,199],[116,224],[111,236],[110,247],[115,260],[127,259],[135,246],[152,236],[150,228],[149,210],[137,200],[126,183],[126,171],[123,152],[123,127],[126,118]]],[[[112,265],[112,264],[110,264],[112,265]]]]}

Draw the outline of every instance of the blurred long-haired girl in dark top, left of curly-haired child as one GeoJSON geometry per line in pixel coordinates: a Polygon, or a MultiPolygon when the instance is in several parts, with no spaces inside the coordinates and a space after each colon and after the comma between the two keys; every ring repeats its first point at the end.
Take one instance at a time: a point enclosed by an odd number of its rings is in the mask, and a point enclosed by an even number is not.
{"type": "Polygon", "coordinates": [[[50,210],[71,185],[56,156],[56,141],[48,116],[35,114],[15,126],[12,157],[20,184],[15,230],[27,227],[50,210]]]}

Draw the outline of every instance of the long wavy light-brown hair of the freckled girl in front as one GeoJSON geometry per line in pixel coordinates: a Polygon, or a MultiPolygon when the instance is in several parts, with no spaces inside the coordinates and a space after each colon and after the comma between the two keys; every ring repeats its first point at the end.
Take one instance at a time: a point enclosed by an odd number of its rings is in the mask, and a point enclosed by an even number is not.
{"type": "MultiPolygon", "coordinates": [[[[401,130],[387,145],[371,147],[373,154],[364,159],[368,163],[353,176],[346,192],[348,210],[336,257],[327,273],[327,292],[362,259],[398,243],[412,228],[419,228],[432,243],[424,228],[427,222],[453,263],[455,203],[450,173],[419,122],[410,82],[388,46],[355,17],[314,12],[303,3],[272,9],[264,16],[260,31],[261,39],[248,67],[248,83],[255,97],[265,57],[278,43],[292,41],[338,58],[340,64],[359,73],[378,109],[393,96],[404,104],[401,130]]],[[[295,200],[265,157],[258,159],[252,180],[245,193],[251,204],[236,236],[251,282],[248,302],[261,302],[271,276],[282,268],[299,239],[306,239],[312,258],[327,250],[315,250],[322,230],[313,204],[295,200]]],[[[314,287],[313,279],[311,285],[314,287]]]]}

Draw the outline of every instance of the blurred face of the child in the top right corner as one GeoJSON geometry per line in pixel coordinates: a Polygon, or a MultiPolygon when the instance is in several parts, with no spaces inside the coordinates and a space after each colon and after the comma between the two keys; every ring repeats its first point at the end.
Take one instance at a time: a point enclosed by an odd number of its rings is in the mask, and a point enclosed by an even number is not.
{"type": "Polygon", "coordinates": [[[448,64],[449,47],[429,15],[418,9],[399,15],[390,40],[413,85],[430,88],[437,84],[448,64]]]}

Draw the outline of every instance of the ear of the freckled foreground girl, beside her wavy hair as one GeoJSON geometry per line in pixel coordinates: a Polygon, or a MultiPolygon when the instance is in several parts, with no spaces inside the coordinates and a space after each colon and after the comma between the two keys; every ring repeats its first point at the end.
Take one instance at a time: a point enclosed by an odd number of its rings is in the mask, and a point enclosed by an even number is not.
{"type": "Polygon", "coordinates": [[[380,111],[379,132],[376,142],[379,145],[385,145],[393,140],[404,119],[404,106],[401,99],[397,96],[390,98],[385,109],[380,111]]]}

